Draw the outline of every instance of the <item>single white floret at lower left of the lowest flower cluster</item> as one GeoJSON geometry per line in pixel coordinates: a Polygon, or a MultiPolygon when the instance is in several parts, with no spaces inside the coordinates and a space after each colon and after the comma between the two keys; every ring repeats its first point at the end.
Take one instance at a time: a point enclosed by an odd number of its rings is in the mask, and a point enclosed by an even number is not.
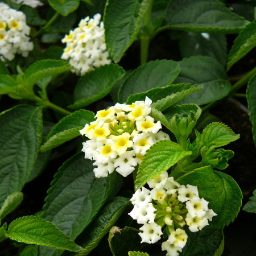
{"type": "Polygon", "coordinates": [[[155,243],[160,240],[163,234],[161,226],[155,222],[146,223],[139,230],[143,231],[143,233],[139,233],[139,236],[142,238],[141,242],[145,243],[155,243]]]}

